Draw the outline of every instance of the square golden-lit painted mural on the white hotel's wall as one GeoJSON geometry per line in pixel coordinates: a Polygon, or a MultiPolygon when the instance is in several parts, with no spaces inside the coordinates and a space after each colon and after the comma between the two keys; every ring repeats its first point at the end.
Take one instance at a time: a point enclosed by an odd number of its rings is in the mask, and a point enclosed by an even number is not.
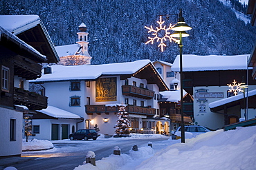
{"type": "Polygon", "coordinates": [[[96,102],[116,101],[116,77],[98,78],[95,92],[96,102]]]}

